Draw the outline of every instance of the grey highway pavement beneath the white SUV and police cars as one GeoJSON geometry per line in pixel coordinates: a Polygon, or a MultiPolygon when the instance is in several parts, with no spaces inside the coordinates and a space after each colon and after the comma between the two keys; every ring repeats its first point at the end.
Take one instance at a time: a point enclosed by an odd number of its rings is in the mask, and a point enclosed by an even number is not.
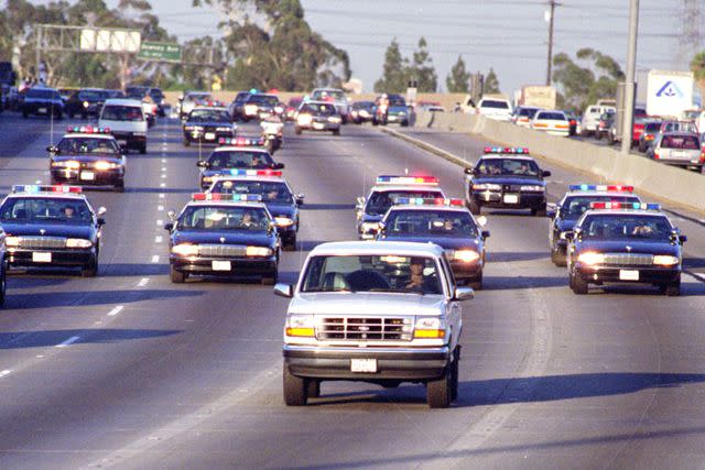
{"type": "MultiPolygon", "coordinates": [[[[462,195],[459,168],[368,128],[286,138],[276,157],[306,194],[304,250],[355,236],[355,196],[378,173],[430,171],[462,195]]],[[[42,177],[45,140],[8,165],[42,177]]],[[[242,280],[172,285],[166,276],[156,221],[196,188],[196,152],[181,146],[174,124],[158,127],[150,154],[130,155],[124,195],[89,193],[109,210],[101,277],[11,280],[0,315],[0,371],[11,371],[0,378],[4,467],[703,461],[702,284],[685,280],[681,298],[643,288],[576,297],[550,263],[546,219],[520,214],[489,217],[487,288],[465,307],[456,406],[429,411],[417,385],[324,383],[313,406],[284,407],[286,302],[242,280]]],[[[284,253],[284,281],[304,255],[284,253]]]]}

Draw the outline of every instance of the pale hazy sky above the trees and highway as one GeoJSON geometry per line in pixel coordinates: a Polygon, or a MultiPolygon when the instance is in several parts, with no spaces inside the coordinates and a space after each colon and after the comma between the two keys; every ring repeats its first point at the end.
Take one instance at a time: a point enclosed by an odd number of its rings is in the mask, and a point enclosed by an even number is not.
{"type": "MultiPolygon", "coordinates": [[[[350,56],[352,76],[371,90],[382,72],[384,51],[397,37],[411,57],[421,36],[438,75],[441,90],[458,55],[467,67],[494,67],[503,92],[543,84],[546,75],[547,1],[541,0],[301,0],[311,26],[350,56]]],[[[685,69],[679,56],[685,0],[641,0],[637,66],[685,69]]],[[[218,13],[192,8],[191,0],[151,0],[161,23],[180,41],[217,35],[218,13]]],[[[556,7],[554,54],[593,47],[625,67],[629,0],[561,0],[556,7]]],[[[705,32],[705,1],[701,31],[705,32]]],[[[117,4],[117,0],[108,0],[117,4]]],[[[705,44],[701,43],[701,48],[705,44]]]]}

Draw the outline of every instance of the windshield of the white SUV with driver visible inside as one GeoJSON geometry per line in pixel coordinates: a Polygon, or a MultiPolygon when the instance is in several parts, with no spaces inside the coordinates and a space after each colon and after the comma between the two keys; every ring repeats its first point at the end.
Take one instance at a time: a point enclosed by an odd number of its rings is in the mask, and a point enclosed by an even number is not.
{"type": "Polygon", "coordinates": [[[302,292],[443,293],[432,258],[393,254],[313,256],[302,292]]]}

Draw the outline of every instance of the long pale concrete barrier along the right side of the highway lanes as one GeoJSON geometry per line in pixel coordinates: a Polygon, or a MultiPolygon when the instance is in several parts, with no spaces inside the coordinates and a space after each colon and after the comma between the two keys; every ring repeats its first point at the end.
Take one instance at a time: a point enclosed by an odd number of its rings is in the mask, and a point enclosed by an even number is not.
{"type": "Polygon", "coordinates": [[[699,212],[705,211],[705,176],[699,173],[634,154],[622,155],[610,147],[547,135],[481,116],[436,113],[431,119],[424,114],[429,113],[419,112],[416,122],[429,122],[427,128],[478,134],[507,146],[525,146],[532,154],[550,162],[599,176],[610,183],[632,185],[643,194],[699,212]]]}

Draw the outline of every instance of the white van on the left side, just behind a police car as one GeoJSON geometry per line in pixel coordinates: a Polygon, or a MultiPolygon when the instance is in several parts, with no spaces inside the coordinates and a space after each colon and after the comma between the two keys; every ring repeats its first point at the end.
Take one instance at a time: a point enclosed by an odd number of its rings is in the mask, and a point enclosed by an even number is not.
{"type": "Polygon", "coordinates": [[[124,150],[147,153],[147,118],[142,102],[135,99],[108,99],[102,106],[98,125],[109,128],[124,150]]]}

